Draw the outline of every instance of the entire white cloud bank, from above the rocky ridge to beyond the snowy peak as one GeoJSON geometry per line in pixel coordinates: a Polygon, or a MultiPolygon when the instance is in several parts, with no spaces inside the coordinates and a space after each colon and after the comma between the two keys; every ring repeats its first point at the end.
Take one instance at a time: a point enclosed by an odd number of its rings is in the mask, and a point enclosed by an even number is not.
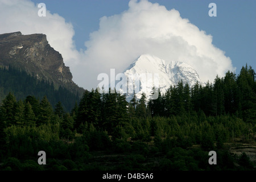
{"type": "Polygon", "coordinates": [[[71,67],[73,80],[86,89],[96,88],[99,73],[110,75],[110,68],[115,68],[116,74],[122,72],[143,53],[183,61],[195,68],[203,81],[234,70],[225,52],[213,46],[212,36],[181,18],[179,11],[158,3],[131,0],[123,13],[102,17],[100,28],[85,42],[84,52],[74,46],[72,24],[49,11],[46,17],[39,17],[38,10],[28,0],[0,0],[0,17],[6,17],[0,18],[0,33],[46,34],[49,44],[71,67]]]}

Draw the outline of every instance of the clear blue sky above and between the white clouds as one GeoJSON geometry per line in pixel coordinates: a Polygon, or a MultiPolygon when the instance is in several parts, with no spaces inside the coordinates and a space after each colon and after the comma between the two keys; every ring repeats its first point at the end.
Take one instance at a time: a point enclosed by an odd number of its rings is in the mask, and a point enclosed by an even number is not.
{"type": "MultiPolygon", "coordinates": [[[[128,9],[126,0],[32,0],[43,2],[52,14],[63,16],[72,23],[75,30],[77,49],[86,49],[84,43],[89,34],[99,28],[102,16],[120,14],[128,9]]],[[[214,46],[225,51],[232,59],[237,72],[242,65],[248,63],[256,69],[256,1],[187,1],[187,0],[149,0],[152,3],[166,6],[167,10],[176,9],[182,18],[187,18],[193,24],[213,36],[214,46]],[[210,17],[208,7],[210,2],[217,5],[217,17],[210,17]]]]}

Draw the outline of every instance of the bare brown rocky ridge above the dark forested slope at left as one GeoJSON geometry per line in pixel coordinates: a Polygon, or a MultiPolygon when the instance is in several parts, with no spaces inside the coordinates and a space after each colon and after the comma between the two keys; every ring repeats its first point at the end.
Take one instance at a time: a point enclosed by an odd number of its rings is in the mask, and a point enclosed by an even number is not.
{"type": "Polygon", "coordinates": [[[72,73],[63,62],[63,57],[53,49],[44,34],[22,35],[13,32],[0,35],[0,66],[9,65],[23,69],[39,80],[48,80],[56,88],[63,86],[74,93],[81,93],[72,81],[72,73]]]}

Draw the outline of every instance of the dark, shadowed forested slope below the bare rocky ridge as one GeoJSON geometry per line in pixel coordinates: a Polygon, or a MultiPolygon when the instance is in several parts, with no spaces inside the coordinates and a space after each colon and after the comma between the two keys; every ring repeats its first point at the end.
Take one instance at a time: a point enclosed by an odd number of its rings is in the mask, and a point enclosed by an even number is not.
{"type": "Polygon", "coordinates": [[[61,102],[65,111],[71,111],[76,102],[79,102],[79,94],[59,86],[55,88],[47,80],[38,80],[25,71],[20,71],[11,66],[0,67],[0,103],[12,92],[17,101],[24,100],[27,96],[34,96],[37,100],[47,96],[52,106],[61,102]]]}

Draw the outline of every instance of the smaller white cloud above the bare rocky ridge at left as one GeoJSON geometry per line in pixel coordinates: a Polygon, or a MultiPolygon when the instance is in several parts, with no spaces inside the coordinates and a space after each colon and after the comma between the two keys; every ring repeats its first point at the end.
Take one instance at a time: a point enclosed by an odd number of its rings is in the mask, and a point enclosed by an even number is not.
{"type": "Polygon", "coordinates": [[[65,63],[78,64],[80,53],[72,40],[75,35],[71,23],[48,10],[39,17],[35,3],[28,0],[0,0],[0,34],[20,31],[27,34],[46,34],[49,44],[63,55],[65,63]]]}

